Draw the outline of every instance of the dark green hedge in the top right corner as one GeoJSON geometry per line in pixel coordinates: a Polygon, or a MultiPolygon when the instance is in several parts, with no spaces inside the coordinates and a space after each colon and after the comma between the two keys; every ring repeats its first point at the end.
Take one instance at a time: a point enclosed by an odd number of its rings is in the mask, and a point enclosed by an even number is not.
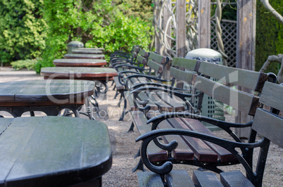
{"type": "MultiPolygon", "coordinates": [[[[283,25],[264,8],[260,0],[256,2],[256,70],[260,70],[268,56],[283,53],[283,25]]],[[[283,1],[270,1],[273,8],[283,15],[283,1]]],[[[278,63],[272,63],[266,72],[277,74],[278,63]]]]}

